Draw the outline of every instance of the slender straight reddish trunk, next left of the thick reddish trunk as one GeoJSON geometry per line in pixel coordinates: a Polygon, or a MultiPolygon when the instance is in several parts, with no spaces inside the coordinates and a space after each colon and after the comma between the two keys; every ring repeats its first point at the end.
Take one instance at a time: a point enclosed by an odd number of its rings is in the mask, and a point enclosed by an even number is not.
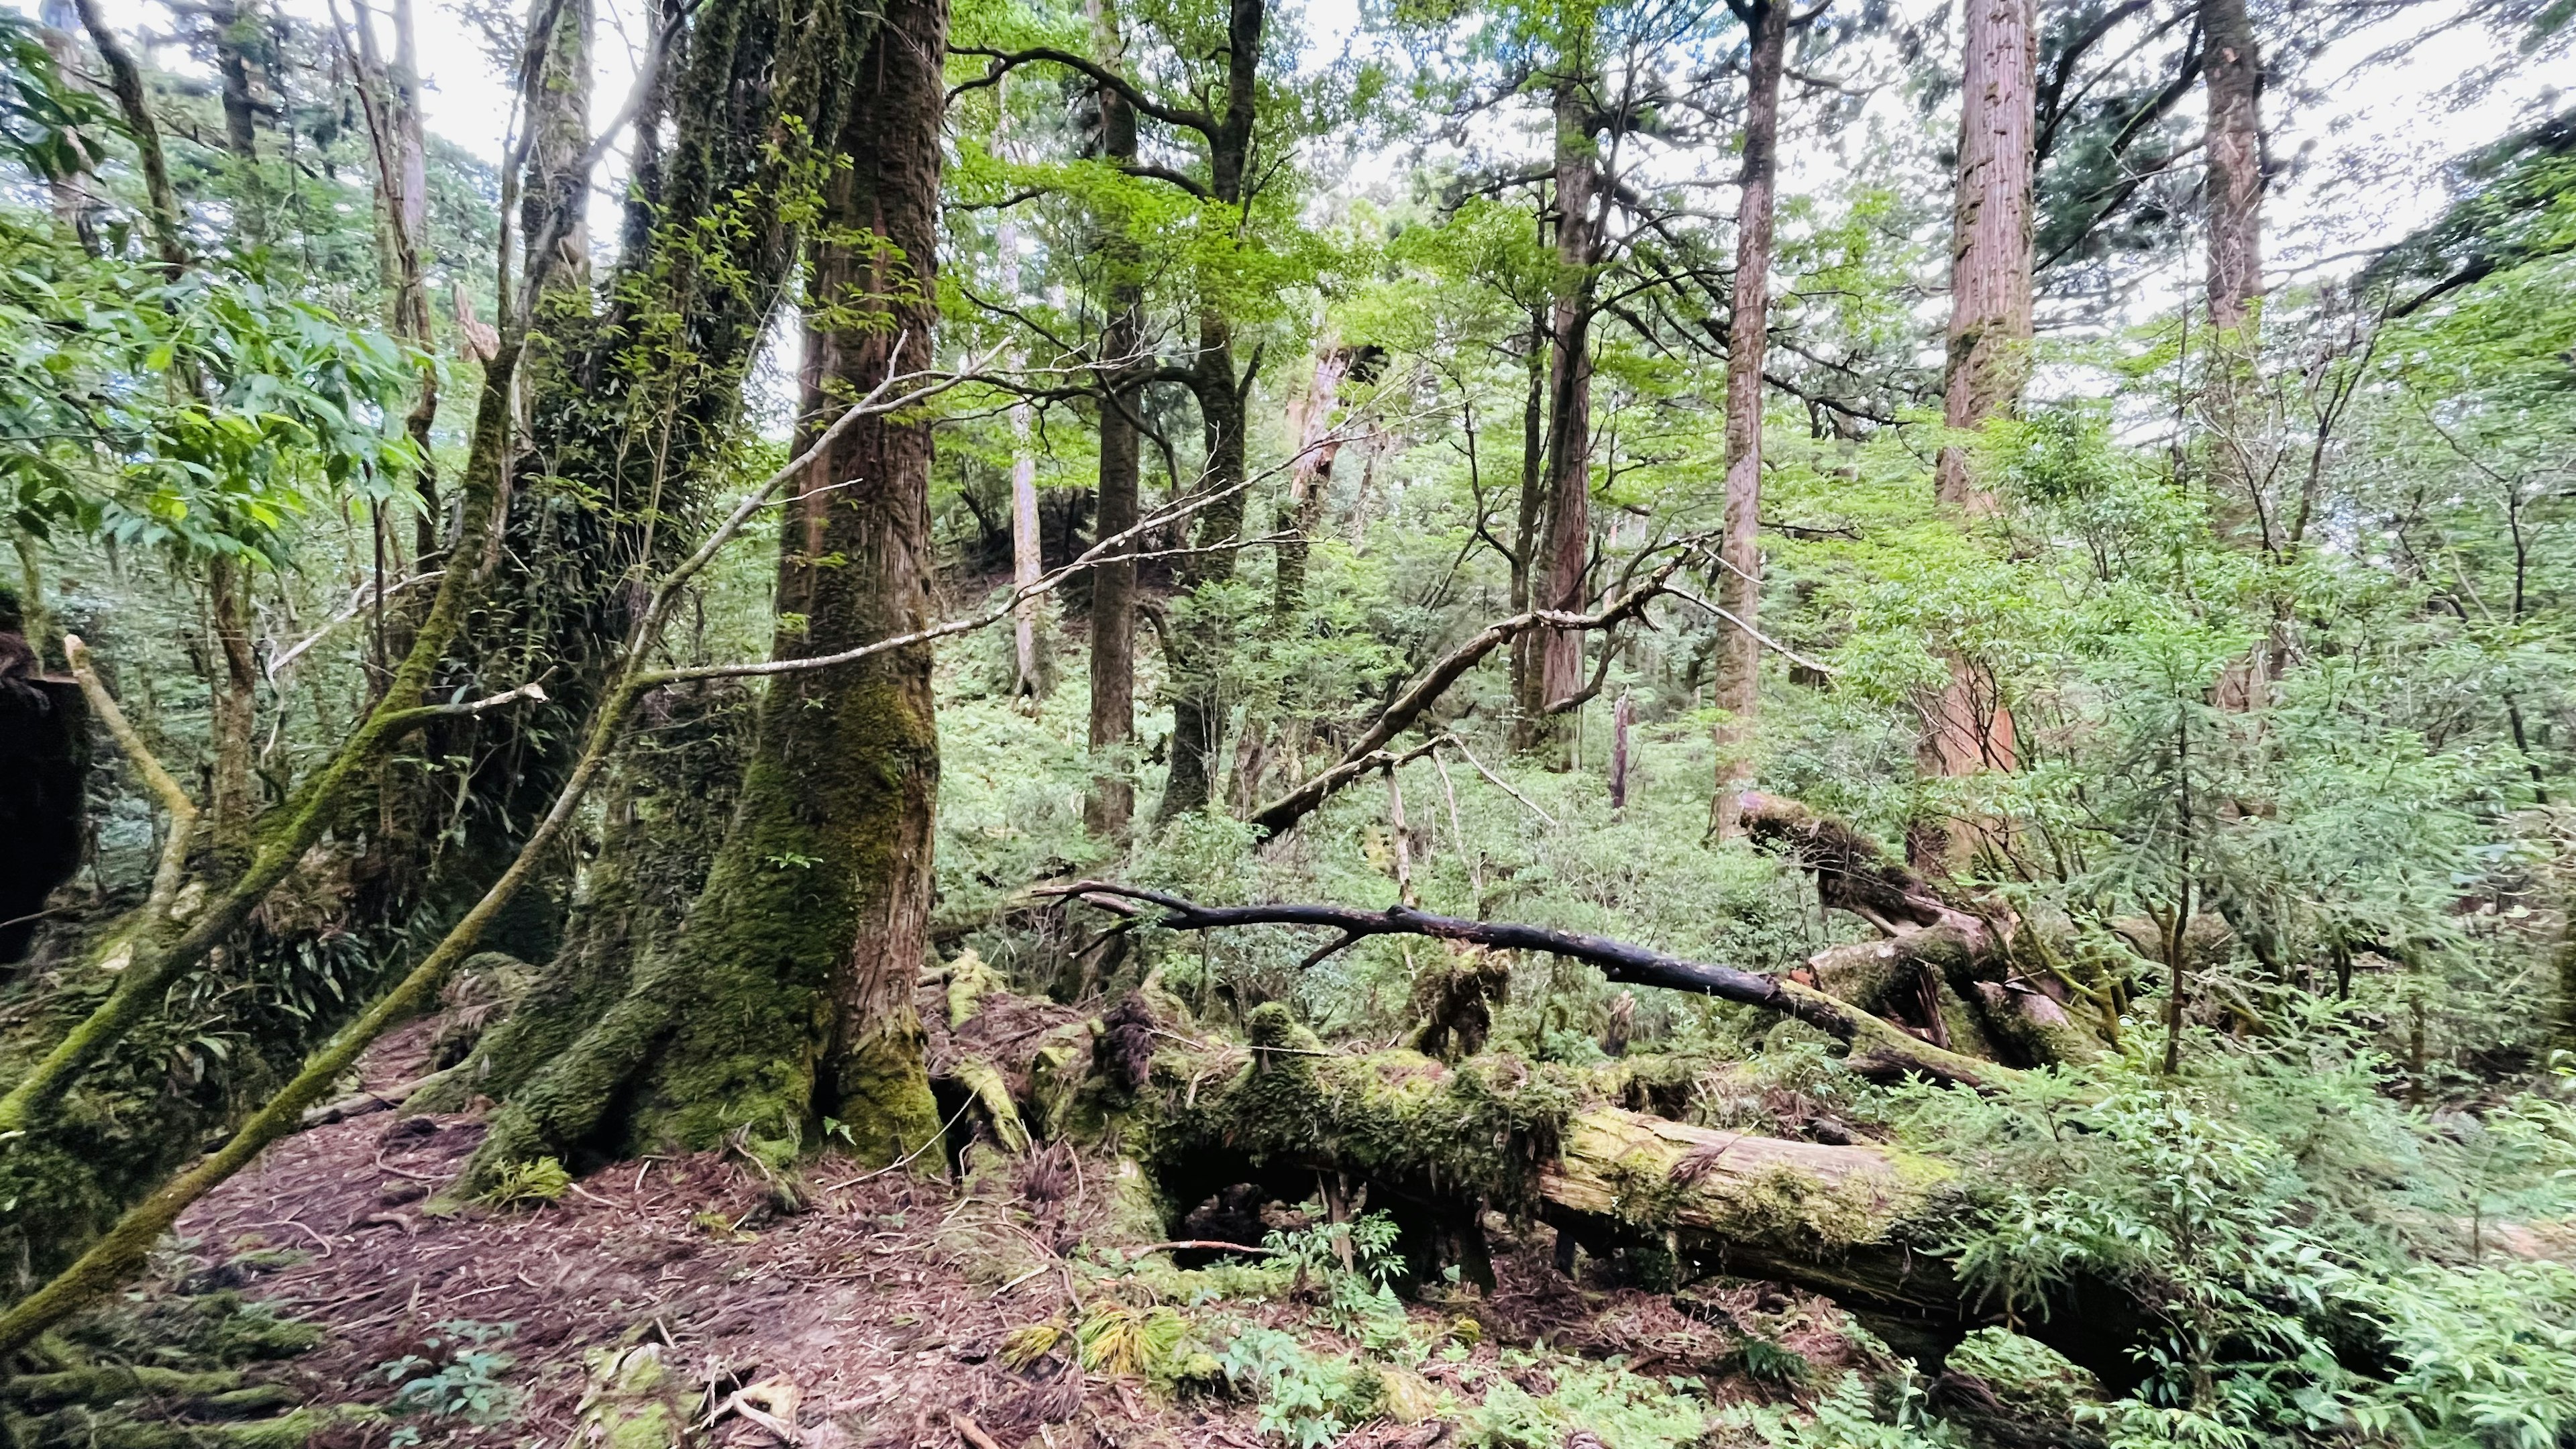
{"type": "Polygon", "coordinates": [[[1762,706],[1762,351],[1770,343],[1772,180],[1780,168],[1780,67],[1788,0],[1754,0],[1744,98],[1744,199],[1736,206],[1736,294],[1726,330],[1726,536],[1718,544],[1718,606],[1741,619],[1721,629],[1713,704],[1718,792],[1710,828],[1736,833],[1736,797],[1754,781],[1752,740],[1762,706]]]}

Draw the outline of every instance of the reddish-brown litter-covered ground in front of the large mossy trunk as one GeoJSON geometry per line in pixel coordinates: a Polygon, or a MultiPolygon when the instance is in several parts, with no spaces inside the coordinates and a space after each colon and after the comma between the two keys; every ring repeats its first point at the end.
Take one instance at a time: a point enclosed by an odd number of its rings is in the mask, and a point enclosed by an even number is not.
{"type": "MultiPolygon", "coordinates": [[[[368,1085],[420,1075],[433,1029],[389,1039],[368,1085]]],[[[1025,1372],[1005,1366],[1012,1330],[1079,1315],[1103,1294],[1103,1263],[1146,1245],[1105,1201],[1108,1160],[1069,1163],[1069,1186],[1030,1189],[1023,1168],[1018,1186],[994,1191],[827,1158],[799,1183],[804,1209],[781,1212],[762,1171],[698,1152],[603,1168],[538,1207],[433,1209],[479,1137],[474,1114],[368,1114],[307,1129],[198,1204],[180,1227],[180,1258],[134,1302],[237,1289],[319,1325],[319,1346],[260,1377],[304,1403],[389,1410],[325,1439],[348,1446],[603,1439],[585,1428],[585,1395],[605,1382],[603,1359],[636,1343],[657,1346],[670,1403],[685,1403],[711,1444],[1280,1441],[1262,1434],[1252,1395],[1157,1395],[1136,1377],[1084,1374],[1069,1348],[1025,1372]],[[1002,1263],[997,1243],[1020,1256],[1002,1263]],[[994,1287],[1018,1263],[1036,1269],[994,1287]],[[399,1379],[433,1369],[440,1392],[397,1400],[399,1379]]],[[[1726,1369],[1754,1318],[1816,1366],[1855,1356],[1821,1299],[1767,1284],[1685,1299],[1589,1289],[1561,1276],[1548,1248],[1546,1227],[1504,1232],[1492,1294],[1409,1305],[1412,1328],[1448,1346],[1422,1366],[1437,1403],[1473,1405],[1504,1379],[1546,1395],[1551,1361],[1571,1356],[1692,1374],[1713,1403],[1765,1397],[1726,1369]]],[[[1293,1294],[1229,1312],[1321,1354],[1352,1348],[1293,1294]]],[[[1430,1446],[1458,1434],[1453,1413],[1396,1418],[1406,1415],[1360,1423],[1340,1444],[1430,1446]]]]}

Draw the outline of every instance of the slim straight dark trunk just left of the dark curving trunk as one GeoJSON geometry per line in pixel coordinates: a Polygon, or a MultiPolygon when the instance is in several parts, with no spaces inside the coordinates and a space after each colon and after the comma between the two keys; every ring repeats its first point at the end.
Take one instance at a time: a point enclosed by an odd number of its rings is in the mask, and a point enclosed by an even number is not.
{"type": "MultiPolygon", "coordinates": [[[[1100,64],[1121,67],[1126,44],[1118,36],[1113,0],[1090,0],[1092,52],[1100,64]]],[[[1110,165],[1136,162],[1136,111],[1103,85],[1100,157],[1110,165]]],[[[1105,276],[1105,325],[1100,330],[1100,508],[1095,536],[1115,539],[1136,526],[1136,469],[1144,392],[1133,387],[1136,353],[1144,348],[1144,258],[1128,235],[1126,217],[1100,224],[1100,266],[1105,276]]],[[[1121,552],[1133,552],[1133,544],[1121,552]]],[[[1126,835],[1136,812],[1136,786],[1128,781],[1126,748],[1136,737],[1136,565],[1092,567],[1092,786],[1082,797],[1082,822],[1097,835],[1126,835]]]]}

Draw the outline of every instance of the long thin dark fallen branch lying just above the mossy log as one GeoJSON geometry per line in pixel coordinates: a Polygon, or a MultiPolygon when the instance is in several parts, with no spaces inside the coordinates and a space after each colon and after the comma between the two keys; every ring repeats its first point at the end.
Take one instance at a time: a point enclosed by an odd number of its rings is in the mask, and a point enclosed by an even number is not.
{"type": "Polygon", "coordinates": [[[1388,910],[1360,910],[1352,905],[1200,905],[1159,890],[1113,882],[1077,882],[1054,887],[1048,895],[1123,897],[1162,908],[1159,926],[1172,931],[1221,931],[1229,926],[1319,926],[1340,931],[1347,946],[1363,936],[1435,936],[1440,941],[1466,941],[1497,951],[1546,951],[1600,967],[1615,982],[1651,985],[1716,995],[1777,1011],[1852,1047],[1844,1065],[1870,1078],[1922,1075],[1940,1083],[1986,1088],[2012,1075],[2012,1067],[1981,1062],[1960,1052],[1945,1052],[1919,1042],[1901,1026],[1870,1016],[1847,1000],[1826,995],[1811,985],[1736,967],[1667,957],[1607,936],[1582,936],[1577,931],[1551,931],[1546,926],[1515,926],[1510,920],[1461,920],[1455,915],[1430,915],[1404,905],[1388,910]]]}

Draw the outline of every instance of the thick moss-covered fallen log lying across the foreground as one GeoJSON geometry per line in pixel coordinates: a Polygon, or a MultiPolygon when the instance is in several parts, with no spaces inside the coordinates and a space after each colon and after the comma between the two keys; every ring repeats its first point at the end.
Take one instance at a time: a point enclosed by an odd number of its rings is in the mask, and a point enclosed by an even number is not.
{"type": "MultiPolygon", "coordinates": [[[[1662,1261],[1674,1284],[1734,1274],[1824,1292],[1927,1359],[1999,1318],[1940,1256],[1973,1183],[1935,1158],[1625,1111],[1582,1067],[1332,1052],[1275,1003],[1247,1031],[1242,1049],[1177,1044],[1154,1060],[1151,1127],[1136,1140],[1172,1212],[1236,1183],[1347,1207],[1365,1183],[1417,1281],[1450,1266],[1489,1281],[1481,1220],[1499,1209],[1553,1222],[1561,1253],[1582,1243],[1662,1261]]],[[[2133,1377],[2136,1305],[2087,1297],[2087,1312],[2025,1330],[2133,1377]]]]}

